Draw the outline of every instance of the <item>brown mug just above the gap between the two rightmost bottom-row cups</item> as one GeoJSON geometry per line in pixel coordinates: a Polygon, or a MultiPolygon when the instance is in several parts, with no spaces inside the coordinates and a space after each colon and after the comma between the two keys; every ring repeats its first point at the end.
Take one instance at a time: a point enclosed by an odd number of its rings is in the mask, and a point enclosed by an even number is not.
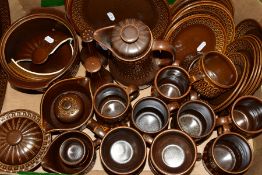
{"type": "Polygon", "coordinates": [[[191,100],[184,103],[172,117],[171,128],[186,132],[200,144],[212,134],[215,124],[213,109],[200,100],[191,100]]]}

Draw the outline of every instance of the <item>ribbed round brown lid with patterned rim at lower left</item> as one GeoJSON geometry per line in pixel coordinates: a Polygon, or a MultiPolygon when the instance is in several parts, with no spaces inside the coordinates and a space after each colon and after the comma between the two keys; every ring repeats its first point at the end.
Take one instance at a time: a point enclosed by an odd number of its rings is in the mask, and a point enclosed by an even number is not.
{"type": "Polygon", "coordinates": [[[0,115],[0,171],[30,171],[42,161],[51,135],[35,112],[17,109],[0,115]]]}

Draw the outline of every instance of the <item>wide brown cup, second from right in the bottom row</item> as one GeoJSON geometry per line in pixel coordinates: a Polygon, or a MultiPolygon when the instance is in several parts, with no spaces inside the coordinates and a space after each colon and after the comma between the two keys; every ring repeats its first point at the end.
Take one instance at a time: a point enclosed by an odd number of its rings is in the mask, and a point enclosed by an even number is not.
{"type": "Polygon", "coordinates": [[[198,157],[197,147],[186,133],[170,129],[158,134],[152,141],[148,163],[156,174],[190,174],[198,157]]]}

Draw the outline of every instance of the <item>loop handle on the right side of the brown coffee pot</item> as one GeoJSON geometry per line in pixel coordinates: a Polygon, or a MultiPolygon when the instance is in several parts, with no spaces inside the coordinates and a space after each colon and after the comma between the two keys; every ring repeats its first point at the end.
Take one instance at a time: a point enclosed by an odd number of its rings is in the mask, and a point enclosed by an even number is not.
{"type": "Polygon", "coordinates": [[[168,41],[155,40],[151,49],[151,53],[154,51],[159,51],[160,53],[162,51],[165,51],[171,55],[171,57],[166,57],[166,58],[154,57],[156,64],[159,67],[171,65],[175,61],[175,48],[168,41]]]}

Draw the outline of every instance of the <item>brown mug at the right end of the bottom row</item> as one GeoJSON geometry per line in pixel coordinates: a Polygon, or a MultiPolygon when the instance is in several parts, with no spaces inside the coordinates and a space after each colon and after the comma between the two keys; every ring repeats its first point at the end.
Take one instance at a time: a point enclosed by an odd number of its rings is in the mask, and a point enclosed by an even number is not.
{"type": "Polygon", "coordinates": [[[253,153],[247,140],[237,133],[225,133],[209,141],[203,152],[203,165],[210,174],[243,174],[251,165],[253,153]]]}

